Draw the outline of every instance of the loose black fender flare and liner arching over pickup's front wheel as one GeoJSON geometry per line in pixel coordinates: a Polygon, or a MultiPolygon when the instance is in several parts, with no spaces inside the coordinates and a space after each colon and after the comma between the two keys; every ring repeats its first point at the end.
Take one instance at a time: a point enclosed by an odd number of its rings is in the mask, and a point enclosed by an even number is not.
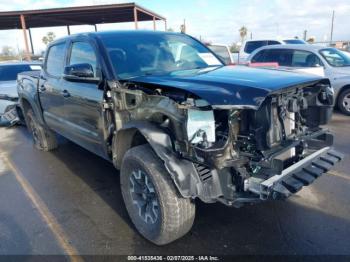
{"type": "Polygon", "coordinates": [[[170,136],[158,126],[146,121],[133,121],[118,130],[113,140],[113,163],[120,169],[126,150],[131,147],[133,136],[139,131],[147,140],[173,179],[182,197],[199,197],[204,202],[215,202],[222,195],[218,173],[211,171],[213,179],[203,182],[194,164],[179,158],[173,150],[170,136]],[[124,152],[123,152],[124,150],[124,152]]]}

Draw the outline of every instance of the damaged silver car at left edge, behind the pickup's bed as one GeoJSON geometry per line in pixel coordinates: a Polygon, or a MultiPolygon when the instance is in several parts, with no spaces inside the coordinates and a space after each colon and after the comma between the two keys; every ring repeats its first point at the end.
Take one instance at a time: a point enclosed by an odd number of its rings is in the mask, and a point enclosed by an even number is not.
{"type": "Polygon", "coordinates": [[[0,63],[0,126],[13,125],[19,120],[17,74],[40,69],[37,63],[0,63]]]}

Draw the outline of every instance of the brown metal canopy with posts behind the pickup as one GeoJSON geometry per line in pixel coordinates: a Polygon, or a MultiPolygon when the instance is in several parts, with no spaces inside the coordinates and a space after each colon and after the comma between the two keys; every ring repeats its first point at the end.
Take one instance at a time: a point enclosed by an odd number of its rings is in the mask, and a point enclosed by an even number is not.
{"type": "Polygon", "coordinates": [[[164,21],[166,29],[166,18],[135,3],[92,5],[0,12],[0,30],[22,29],[26,57],[30,59],[30,53],[33,53],[30,28],[67,26],[68,34],[70,34],[69,26],[71,25],[93,25],[96,31],[96,24],[134,22],[135,29],[138,29],[138,22],[153,21],[153,29],[156,30],[156,21],[159,20],[164,21]],[[27,30],[29,31],[31,52],[27,30]]]}

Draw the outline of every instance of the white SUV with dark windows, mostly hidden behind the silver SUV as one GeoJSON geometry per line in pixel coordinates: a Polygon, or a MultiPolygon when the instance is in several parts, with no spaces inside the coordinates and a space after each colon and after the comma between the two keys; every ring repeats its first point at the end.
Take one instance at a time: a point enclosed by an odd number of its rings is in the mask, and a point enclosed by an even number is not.
{"type": "Polygon", "coordinates": [[[285,40],[247,40],[243,43],[239,50],[239,63],[245,63],[249,55],[254,52],[256,49],[267,46],[267,45],[300,45],[307,44],[304,40],[301,39],[285,39],[285,40]]]}

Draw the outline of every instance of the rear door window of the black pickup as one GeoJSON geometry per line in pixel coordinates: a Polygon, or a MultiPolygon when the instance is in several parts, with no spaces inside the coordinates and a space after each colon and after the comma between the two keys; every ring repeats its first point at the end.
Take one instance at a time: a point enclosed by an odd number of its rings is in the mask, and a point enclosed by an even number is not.
{"type": "Polygon", "coordinates": [[[65,43],[53,45],[49,49],[46,59],[46,72],[60,77],[63,74],[65,43]]]}

